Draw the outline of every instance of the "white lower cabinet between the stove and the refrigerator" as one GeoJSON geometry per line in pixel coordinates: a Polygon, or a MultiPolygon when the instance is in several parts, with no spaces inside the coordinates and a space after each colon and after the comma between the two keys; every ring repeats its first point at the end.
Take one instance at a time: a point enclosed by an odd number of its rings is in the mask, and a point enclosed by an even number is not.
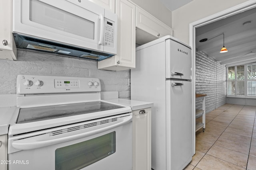
{"type": "Polygon", "coordinates": [[[151,107],[132,114],[132,170],[151,170],[151,107]]]}

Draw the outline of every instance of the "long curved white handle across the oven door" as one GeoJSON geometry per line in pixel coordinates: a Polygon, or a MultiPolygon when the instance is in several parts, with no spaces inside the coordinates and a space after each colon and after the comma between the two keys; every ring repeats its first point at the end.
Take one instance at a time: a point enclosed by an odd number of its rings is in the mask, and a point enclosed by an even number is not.
{"type": "Polygon", "coordinates": [[[50,139],[50,140],[26,140],[26,139],[20,139],[17,141],[13,141],[12,142],[12,147],[14,147],[15,149],[19,149],[19,150],[30,150],[30,149],[36,149],[36,148],[42,148],[42,147],[46,147],[46,146],[50,146],[50,145],[56,145],[59,143],[64,143],[64,142],[68,142],[68,141],[74,141],[76,139],[81,139],[84,137],[88,137],[91,135],[95,135],[104,131],[108,131],[110,129],[114,129],[116,127],[125,125],[127,123],[129,123],[130,121],[132,121],[132,115],[126,116],[126,117],[122,117],[122,121],[110,125],[110,126],[106,126],[100,129],[96,129],[93,131],[88,131],[85,133],[80,133],[80,134],[76,134],[76,135],[72,135],[72,136],[68,136],[68,137],[62,137],[62,138],[57,138],[57,139],[50,139]]]}

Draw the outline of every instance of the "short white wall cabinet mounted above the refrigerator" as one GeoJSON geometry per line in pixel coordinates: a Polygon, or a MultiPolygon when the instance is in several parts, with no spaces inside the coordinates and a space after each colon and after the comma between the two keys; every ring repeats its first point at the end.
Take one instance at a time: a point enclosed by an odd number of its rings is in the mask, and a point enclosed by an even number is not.
{"type": "Polygon", "coordinates": [[[136,43],[142,45],[165,35],[173,35],[172,28],[136,6],[136,43]]]}

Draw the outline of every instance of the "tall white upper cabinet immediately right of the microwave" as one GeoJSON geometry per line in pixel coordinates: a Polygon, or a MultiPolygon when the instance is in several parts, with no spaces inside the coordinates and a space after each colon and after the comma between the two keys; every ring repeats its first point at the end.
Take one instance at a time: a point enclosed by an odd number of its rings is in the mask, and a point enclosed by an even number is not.
{"type": "Polygon", "coordinates": [[[116,0],[118,15],[117,55],[98,62],[104,70],[135,68],[136,6],[127,0],[116,0]]]}

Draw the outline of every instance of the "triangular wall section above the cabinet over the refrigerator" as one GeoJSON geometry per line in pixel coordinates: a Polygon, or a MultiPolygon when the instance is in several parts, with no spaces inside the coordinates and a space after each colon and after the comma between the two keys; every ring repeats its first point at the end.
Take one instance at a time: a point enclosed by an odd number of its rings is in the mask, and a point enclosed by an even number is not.
{"type": "Polygon", "coordinates": [[[140,8],[143,8],[152,16],[172,27],[172,12],[160,2],[160,0],[131,0],[140,8]]]}

